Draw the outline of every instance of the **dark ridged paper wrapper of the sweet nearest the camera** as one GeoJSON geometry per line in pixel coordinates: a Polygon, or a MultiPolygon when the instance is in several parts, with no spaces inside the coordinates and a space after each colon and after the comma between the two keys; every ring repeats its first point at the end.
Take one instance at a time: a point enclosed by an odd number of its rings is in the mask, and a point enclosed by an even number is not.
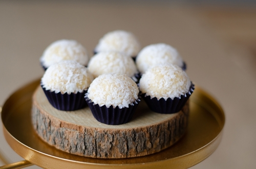
{"type": "Polygon", "coordinates": [[[93,116],[100,122],[107,125],[121,125],[130,122],[133,117],[133,114],[140,102],[138,99],[133,105],[129,105],[129,107],[119,108],[118,106],[114,108],[110,106],[107,108],[104,106],[99,106],[98,104],[94,105],[94,102],[85,97],[87,104],[89,105],[93,116]]]}

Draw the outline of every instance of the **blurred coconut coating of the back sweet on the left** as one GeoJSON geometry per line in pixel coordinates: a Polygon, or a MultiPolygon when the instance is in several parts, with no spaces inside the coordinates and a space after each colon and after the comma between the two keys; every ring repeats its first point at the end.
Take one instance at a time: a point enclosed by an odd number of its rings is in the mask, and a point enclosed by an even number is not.
{"type": "Polygon", "coordinates": [[[75,40],[58,40],[50,44],[40,58],[45,67],[49,67],[62,60],[74,60],[81,65],[87,65],[89,56],[86,48],[75,40]]]}

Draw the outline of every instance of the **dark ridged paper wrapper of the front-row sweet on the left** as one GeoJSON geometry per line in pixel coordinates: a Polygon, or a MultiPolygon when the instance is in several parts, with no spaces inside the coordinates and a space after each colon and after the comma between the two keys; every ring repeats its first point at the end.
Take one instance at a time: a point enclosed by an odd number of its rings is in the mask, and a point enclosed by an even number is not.
{"type": "Polygon", "coordinates": [[[84,94],[87,93],[87,90],[71,94],[61,94],[61,92],[55,93],[54,91],[46,90],[44,87],[42,87],[42,90],[44,90],[50,104],[58,110],[74,111],[82,109],[87,105],[83,98],[84,94]]]}

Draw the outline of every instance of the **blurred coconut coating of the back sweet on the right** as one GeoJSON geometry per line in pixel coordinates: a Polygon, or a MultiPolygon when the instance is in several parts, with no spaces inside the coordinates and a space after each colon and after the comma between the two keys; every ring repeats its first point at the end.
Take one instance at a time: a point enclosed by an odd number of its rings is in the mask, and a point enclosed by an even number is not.
{"type": "Polygon", "coordinates": [[[144,74],[148,68],[157,65],[176,64],[182,67],[183,60],[174,47],[157,43],[144,47],[136,58],[136,64],[139,71],[144,74]]]}

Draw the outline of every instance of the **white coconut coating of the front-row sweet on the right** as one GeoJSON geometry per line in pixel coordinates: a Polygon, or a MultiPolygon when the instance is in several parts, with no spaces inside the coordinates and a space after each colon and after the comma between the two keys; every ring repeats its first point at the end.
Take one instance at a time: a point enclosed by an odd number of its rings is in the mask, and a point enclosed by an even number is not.
{"type": "Polygon", "coordinates": [[[155,66],[142,75],[139,89],[142,93],[158,100],[179,98],[189,91],[191,82],[177,65],[155,66]]]}

